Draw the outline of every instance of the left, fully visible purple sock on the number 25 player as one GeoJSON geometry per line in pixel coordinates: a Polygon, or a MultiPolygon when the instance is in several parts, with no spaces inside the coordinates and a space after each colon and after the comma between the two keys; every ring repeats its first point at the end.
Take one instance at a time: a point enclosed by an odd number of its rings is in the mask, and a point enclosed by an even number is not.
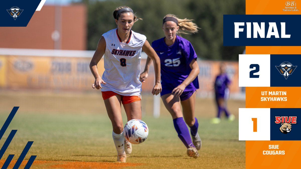
{"type": "Polygon", "coordinates": [[[175,126],[175,131],[178,133],[178,137],[185,144],[185,146],[187,148],[189,148],[189,146],[195,147],[192,143],[188,127],[183,117],[173,119],[173,125],[175,126]]]}

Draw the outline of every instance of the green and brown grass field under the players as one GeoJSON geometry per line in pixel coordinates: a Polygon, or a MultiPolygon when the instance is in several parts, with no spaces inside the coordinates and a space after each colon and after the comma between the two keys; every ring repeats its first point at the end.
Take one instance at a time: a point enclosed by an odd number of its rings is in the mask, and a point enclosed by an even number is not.
{"type": "MultiPolygon", "coordinates": [[[[149,127],[149,136],[144,143],[133,145],[128,163],[119,164],[100,94],[0,91],[0,127],[13,106],[20,106],[0,140],[2,147],[10,131],[18,130],[0,166],[9,154],[15,154],[12,167],[27,141],[34,141],[25,158],[37,155],[32,168],[245,168],[245,142],[238,141],[238,108],[245,107],[244,101],[228,102],[237,117],[234,122],[224,119],[213,125],[209,123],[216,112],[213,100],[197,99],[203,145],[200,157],[194,159],[186,155],[163,104],[156,119],[152,117],[152,97],[142,95],[142,99],[142,120],[149,127]]],[[[125,124],[125,116],[123,119],[125,124]]]]}

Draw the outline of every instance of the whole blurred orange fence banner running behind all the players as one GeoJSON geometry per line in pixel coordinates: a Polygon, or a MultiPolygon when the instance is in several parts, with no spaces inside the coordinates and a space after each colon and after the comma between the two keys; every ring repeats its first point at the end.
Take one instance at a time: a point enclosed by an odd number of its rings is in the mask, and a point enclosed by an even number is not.
{"type": "MultiPolygon", "coordinates": [[[[94,83],[89,69],[90,61],[90,57],[0,56],[0,88],[89,91],[94,83]]],[[[142,71],[145,62],[146,59],[141,60],[142,71]]],[[[198,63],[200,89],[197,94],[207,97],[213,94],[213,85],[221,62],[198,60],[198,63]]],[[[238,62],[224,63],[232,81],[231,94],[240,93],[238,62]]],[[[103,59],[98,63],[98,72],[100,75],[104,72],[103,59]]],[[[142,91],[151,93],[154,79],[154,68],[151,66],[147,81],[142,84],[142,91]]]]}

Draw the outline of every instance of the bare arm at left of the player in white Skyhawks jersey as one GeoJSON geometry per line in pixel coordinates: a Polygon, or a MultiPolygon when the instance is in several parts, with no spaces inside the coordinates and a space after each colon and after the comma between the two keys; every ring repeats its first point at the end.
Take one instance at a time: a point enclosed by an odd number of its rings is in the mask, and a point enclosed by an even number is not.
{"type": "Polygon", "coordinates": [[[101,38],[98,41],[98,45],[96,48],[96,51],[92,57],[92,60],[90,62],[90,70],[95,78],[95,82],[94,84],[92,84],[92,88],[96,88],[96,89],[100,89],[101,88],[101,83],[102,84],[106,84],[106,82],[104,82],[99,73],[98,73],[98,69],[97,69],[97,64],[98,62],[101,60],[102,56],[104,55],[104,52],[106,50],[106,41],[104,39],[103,36],[101,36],[101,38]]]}

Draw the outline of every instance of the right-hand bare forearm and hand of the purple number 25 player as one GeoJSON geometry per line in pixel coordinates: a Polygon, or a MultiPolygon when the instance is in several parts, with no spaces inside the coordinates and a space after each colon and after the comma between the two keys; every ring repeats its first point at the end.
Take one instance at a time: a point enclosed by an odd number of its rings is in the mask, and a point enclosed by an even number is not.
{"type": "Polygon", "coordinates": [[[189,73],[188,77],[182,82],[182,84],[178,85],[176,88],[172,90],[172,93],[181,95],[185,88],[197,77],[200,73],[199,65],[197,64],[197,60],[192,60],[189,64],[191,68],[191,72],[189,73]]]}

